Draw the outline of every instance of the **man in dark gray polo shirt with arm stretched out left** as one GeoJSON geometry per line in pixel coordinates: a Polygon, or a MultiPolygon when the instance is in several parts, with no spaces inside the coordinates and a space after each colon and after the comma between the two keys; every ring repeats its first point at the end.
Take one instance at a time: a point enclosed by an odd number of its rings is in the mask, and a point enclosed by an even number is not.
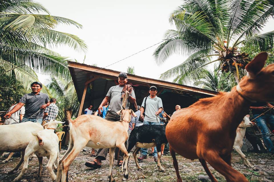
{"type": "Polygon", "coordinates": [[[50,102],[49,96],[41,93],[41,89],[42,84],[40,82],[33,82],[31,84],[32,92],[25,94],[15,107],[4,115],[4,118],[11,117],[11,114],[18,111],[25,104],[25,115],[22,122],[32,121],[42,124],[44,109],[49,106],[50,102]]]}

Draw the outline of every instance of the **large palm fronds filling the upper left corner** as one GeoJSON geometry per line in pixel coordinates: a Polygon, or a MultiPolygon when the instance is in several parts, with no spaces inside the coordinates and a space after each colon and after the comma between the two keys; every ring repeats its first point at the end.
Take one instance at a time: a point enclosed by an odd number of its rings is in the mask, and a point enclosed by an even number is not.
{"type": "Polygon", "coordinates": [[[32,0],[1,1],[1,74],[13,75],[25,87],[38,80],[36,72],[68,79],[68,58],[51,48],[65,45],[76,51],[86,51],[86,44],[75,35],[54,30],[59,24],[82,28],[73,20],[49,15],[45,7],[32,0]]]}

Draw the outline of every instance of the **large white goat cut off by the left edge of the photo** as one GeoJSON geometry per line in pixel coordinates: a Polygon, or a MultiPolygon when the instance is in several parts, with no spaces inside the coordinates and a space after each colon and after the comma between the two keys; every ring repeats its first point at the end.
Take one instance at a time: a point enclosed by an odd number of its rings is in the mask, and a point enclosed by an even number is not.
{"type": "MultiPolygon", "coordinates": [[[[33,123],[31,121],[24,122],[24,123],[18,123],[15,125],[0,125],[0,136],[4,136],[0,140],[0,156],[4,152],[20,152],[21,151],[21,160],[17,164],[17,166],[9,171],[9,173],[12,173],[13,171],[16,171],[24,160],[24,153],[25,148],[29,144],[29,142],[32,139],[35,139],[37,137],[32,135],[32,132],[38,132],[43,130],[41,124],[39,123],[33,123]]],[[[38,158],[39,162],[41,158],[38,158]]],[[[39,173],[38,177],[41,177],[42,173],[42,163],[39,166],[39,173]]]]}

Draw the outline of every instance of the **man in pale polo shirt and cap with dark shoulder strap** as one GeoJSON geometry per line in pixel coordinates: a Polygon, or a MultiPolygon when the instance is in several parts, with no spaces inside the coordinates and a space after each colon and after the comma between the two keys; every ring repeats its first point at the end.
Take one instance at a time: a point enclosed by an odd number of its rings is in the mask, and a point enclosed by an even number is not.
{"type": "MultiPolygon", "coordinates": [[[[141,107],[141,115],[140,119],[144,120],[143,125],[160,125],[160,121],[157,120],[156,115],[159,115],[163,110],[162,99],[157,97],[157,87],[151,86],[149,88],[150,96],[145,97],[141,107]],[[143,115],[145,111],[145,116],[143,115]]],[[[148,149],[141,148],[140,157],[138,157],[138,161],[143,161],[147,158],[148,149]]],[[[158,162],[157,149],[154,147],[154,161],[158,162]]]]}

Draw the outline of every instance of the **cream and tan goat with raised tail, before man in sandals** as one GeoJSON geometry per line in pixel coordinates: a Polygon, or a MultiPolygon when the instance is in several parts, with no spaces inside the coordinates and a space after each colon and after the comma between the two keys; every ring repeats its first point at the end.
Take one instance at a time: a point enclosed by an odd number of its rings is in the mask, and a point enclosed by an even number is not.
{"type": "Polygon", "coordinates": [[[131,115],[137,117],[131,109],[124,109],[117,112],[121,115],[120,122],[111,122],[95,115],[81,115],[75,120],[70,119],[70,112],[67,112],[69,120],[69,146],[67,152],[61,158],[57,170],[57,182],[67,180],[68,168],[74,158],[85,146],[90,148],[109,149],[109,181],[113,182],[112,166],[114,163],[114,149],[118,147],[125,156],[128,156],[125,141],[128,139],[128,123],[131,115]]]}

